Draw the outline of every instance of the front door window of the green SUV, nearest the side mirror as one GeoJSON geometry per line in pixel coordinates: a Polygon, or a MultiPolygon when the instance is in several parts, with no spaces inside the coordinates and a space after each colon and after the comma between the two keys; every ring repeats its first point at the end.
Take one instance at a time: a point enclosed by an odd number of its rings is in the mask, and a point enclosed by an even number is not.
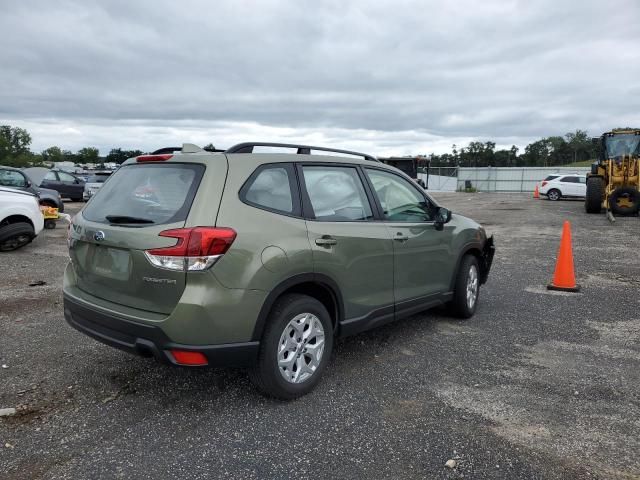
{"type": "Polygon", "coordinates": [[[385,219],[392,222],[433,220],[431,203],[410,182],[390,172],[366,169],[385,219]]]}

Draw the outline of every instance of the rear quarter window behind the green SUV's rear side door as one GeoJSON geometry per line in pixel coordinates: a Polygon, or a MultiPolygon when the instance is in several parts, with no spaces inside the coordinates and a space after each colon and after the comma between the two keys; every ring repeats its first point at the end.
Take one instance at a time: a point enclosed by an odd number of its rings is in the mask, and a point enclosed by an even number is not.
{"type": "Polygon", "coordinates": [[[240,199],[256,207],[295,214],[293,195],[293,167],[291,164],[265,165],[249,177],[240,190],[240,199]]]}

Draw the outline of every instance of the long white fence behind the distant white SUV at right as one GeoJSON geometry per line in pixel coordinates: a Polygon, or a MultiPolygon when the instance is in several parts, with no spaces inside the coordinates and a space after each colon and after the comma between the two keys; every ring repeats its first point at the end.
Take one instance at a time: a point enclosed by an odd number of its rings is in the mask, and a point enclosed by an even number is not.
{"type": "Polygon", "coordinates": [[[470,186],[482,192],[532,192],[547,175],[585,174],[589,167],[479,167],[458,168],[456,190],[470,186]]]}

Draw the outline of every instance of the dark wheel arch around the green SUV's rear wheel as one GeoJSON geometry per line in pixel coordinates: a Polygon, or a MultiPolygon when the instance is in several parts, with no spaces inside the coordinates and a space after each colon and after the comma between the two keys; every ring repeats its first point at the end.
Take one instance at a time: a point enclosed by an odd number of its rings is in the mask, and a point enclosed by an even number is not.
{"type": "Polygon", "coordinates": [[[308,295],[322,303],[331,315],[334,333],[337,332],[339,322],[344,319],[344,302],[338,284],[326,275],[301,273],[282,281],[269,292],[258,314],[251,340],[260,340],[271,308],[288,293],[308,295]]]}

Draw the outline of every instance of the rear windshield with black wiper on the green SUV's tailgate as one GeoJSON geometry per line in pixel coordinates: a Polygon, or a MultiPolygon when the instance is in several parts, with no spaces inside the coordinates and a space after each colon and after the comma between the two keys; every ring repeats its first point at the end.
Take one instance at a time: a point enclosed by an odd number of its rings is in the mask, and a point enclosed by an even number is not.
{"type": "Polygon", "coordinates": [[[183,222],[203,173],[203,165],[193,164],[122,167],[98,190],[82,216],[100,223],[118,218],[117,223],[136,226],[183,222]]]}

